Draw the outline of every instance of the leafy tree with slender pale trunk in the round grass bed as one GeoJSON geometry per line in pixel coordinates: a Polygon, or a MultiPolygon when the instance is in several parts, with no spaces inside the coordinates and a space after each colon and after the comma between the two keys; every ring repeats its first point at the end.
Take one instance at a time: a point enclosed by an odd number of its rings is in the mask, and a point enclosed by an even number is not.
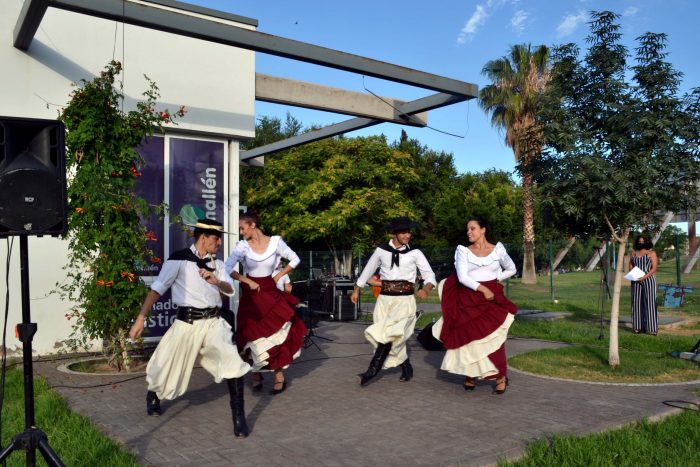
{"type": "MultiPolygon", "coordinates": [[[[546,123],[548,150],[528,167],[543,203],[582,231],[612,237],[617,264],[635,228],[653,228],[656,213],[696,204],[700,176],[692,113],[678,97],[680,73],[665,61],[666,36],[638,38],[632,83],[615,13],[592,12],[583,61],[568,44],[556,49],[546,123]]],[[[608,362],[620,364],[618,319],[623,268],[610,311],[608,362]]]]}

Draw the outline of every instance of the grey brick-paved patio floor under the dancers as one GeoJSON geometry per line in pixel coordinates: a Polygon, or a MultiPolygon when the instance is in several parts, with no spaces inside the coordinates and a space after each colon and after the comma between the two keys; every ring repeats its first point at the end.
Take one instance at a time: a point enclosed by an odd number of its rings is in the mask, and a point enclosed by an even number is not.
{"type": "MultiPolygon", "coordinates": [[[[700,402],[700,383],[603,385],[540,378],[515,370],[510,386],[492,395],[490,383],[473,392],[462,378],[439,370],[441,352],[411,339],[415,378],[399,382],[386,370],[357,384],[371,346],[365,324],[323,321],[319,336],[287,371],[287,390],[273,396],[246,383],[250,437],[234,438],[225,384],[196,368],[188,392],[163,402],[161,417],[145,414],[143,377],[92,376],[35,363],[35,371],[110,437],[157,466],[457,466],[493,465],[519,456],[550,433],[584,434],[665,414],[669,400],[700,402]]],[[[555,347],[509,339],[509,355],[555,347]]]]}

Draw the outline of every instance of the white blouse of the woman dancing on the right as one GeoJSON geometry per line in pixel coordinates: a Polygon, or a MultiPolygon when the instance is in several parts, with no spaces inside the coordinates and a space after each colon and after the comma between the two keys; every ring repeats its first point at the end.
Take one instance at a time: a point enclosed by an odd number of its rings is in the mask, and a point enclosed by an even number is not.
{"type": "Polygon", "coordinates": [[[478,289],[480,282],[502,281],[516,272],[515,263],[501,242],[486,256],[476,256],[466,246],[459,245],[455,251],[455,269],[459,282],[472,290],[478,289]]]}

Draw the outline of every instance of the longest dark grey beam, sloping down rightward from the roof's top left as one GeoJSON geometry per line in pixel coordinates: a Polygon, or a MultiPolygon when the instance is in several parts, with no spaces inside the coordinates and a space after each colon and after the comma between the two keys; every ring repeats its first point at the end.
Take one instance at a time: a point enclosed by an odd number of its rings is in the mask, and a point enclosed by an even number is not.
{"type": "MultiPolygon", "coordinates": [[[[212,21],[207,18],[192,16],[177,11],[163,9],[154,4],[136,3],[128,0],[28,0],[39,9],[41,2],[47,2],[54,8],[96,16],[112,21],[133,24],[158,31],[178,34],[185,37],[226,44],[266,54],[291,58],[303,62],[323,65],[330,68],[361,73],[375,78],[445,92],[466,98],[475,98],[478,88],[444,76],[413,70],[391,63],[373,60],[338,50],[327,49],[317,45],[299,42],[284,37],[240,28],[229,24],[212,21]]],[[[36,20],[36,15],[20,17],[16,29],[32,30],[28,20],[36,20]]],[[[37,25],[38,26],[38,25],[37,25]]],[[[31,34],[36,32],[36,28],[31,34]]],[[[16,43],[18,48],[28,48],[31,37],[16,43]]]]}

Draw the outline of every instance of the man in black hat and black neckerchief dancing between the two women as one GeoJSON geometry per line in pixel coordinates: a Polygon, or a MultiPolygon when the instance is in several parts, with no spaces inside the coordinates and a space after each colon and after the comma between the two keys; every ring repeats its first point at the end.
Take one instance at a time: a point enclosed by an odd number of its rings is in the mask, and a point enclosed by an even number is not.
{"type": "MultiPolygon", "coordinates": [[[[408,242],[411,229],[416,227],[407,217],[396,217],[386,227],[391,240],[377,247],[367,261],[355,283],[350,299],[357,303],[360,287],[367,285],[379,268],[381,292],[374,305],[373,324],[365,330],[365,338],[375,347],[369,368],[359,374],[360,384],[365,385],[382,368],[401,366],[400,381],[413,377],[413,367],[406,352],[406,342],[416,326],[416,299],[425,299],[437,286],[435,274],[425,255],[408,242]],[[425,286],[415,293],[416,269],[425,286]]],[[[371,283],[370,285],[378,285],[371,283]]]]}

